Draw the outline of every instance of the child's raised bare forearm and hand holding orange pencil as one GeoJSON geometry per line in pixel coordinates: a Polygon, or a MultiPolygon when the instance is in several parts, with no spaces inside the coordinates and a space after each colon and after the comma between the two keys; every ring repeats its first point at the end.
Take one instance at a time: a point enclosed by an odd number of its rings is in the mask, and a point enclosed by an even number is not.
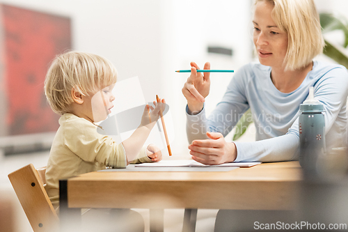
{"type": "MultiPolygon", "coordinates": [[[[155,109],[153,107],[149,107],[146,105],[143,113],[143,117],[141,118],[141,125],[133,132],[131,137],[122,141],[123,148],[125,148],[125,153],[127,157],[127,165],[139,154],[141,148],[143,147],[146,139],[155,126],[157,119],[159,118],[159,111],[164,111],[166,107],[166,102],[163,100],[159,100],[159,103],[154,102],[155,109]],[[152,111],[150,111],[150,108],[152,111]]],[[[151,158],[152,160],[152,158],[151,158]]]]}

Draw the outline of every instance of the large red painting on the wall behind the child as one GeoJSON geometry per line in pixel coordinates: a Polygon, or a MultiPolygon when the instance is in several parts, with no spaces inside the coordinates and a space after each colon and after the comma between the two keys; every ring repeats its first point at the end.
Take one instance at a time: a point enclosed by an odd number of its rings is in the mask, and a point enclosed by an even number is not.
{"type": "Polygon", "coordinates": [[[44,93],[49,63],[71,48],[71,22],[61,17],[1,5],[4,91],[8,135],[52,132],[59,116],[44,93]]]}

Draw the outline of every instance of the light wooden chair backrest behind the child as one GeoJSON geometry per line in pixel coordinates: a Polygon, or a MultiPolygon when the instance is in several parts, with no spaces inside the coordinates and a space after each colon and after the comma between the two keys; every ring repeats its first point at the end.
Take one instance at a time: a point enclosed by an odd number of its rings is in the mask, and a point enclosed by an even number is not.
{"type": "Polygon", "coordinates": [[[58,231],[59,219],[44,188],[45,171],[29,164],[8,174],[34,232],[58,231]]]}

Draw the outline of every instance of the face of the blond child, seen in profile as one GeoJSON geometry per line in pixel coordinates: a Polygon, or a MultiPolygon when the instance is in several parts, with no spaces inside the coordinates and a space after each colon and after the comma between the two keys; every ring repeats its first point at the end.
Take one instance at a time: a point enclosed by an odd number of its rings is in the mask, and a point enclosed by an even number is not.
{"type": "Polygon", "coordinates": [[[103,121],[111,113],[112,101],[115,100],[115,96],[112,94],[114,86],[115,84],[112,84],[103,88],[91,98],[90,105],[92,107],[93,122],[103,121]]]}

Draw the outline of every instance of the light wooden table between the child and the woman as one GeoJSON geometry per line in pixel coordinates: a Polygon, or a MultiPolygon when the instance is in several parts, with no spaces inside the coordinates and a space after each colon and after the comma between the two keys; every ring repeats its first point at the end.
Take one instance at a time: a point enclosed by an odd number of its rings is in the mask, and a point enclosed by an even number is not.
{"type": "Polygon", "coordinates": [[[61,180],[61,221],[71,208],[295,209],[301,179],[299,162],[221,172],[86,173],[61,180]]]}

